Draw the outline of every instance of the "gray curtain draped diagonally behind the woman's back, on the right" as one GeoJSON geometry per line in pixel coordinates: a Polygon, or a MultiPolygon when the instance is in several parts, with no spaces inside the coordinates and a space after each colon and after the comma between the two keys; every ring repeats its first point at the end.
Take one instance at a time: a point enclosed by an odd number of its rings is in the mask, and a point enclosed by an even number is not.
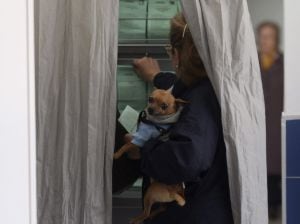
{"type": "Polygon", "coordinates": [[[222,110],[236,224],[267,224],[265,112],[246,0],[181,0],[222,110]]]}

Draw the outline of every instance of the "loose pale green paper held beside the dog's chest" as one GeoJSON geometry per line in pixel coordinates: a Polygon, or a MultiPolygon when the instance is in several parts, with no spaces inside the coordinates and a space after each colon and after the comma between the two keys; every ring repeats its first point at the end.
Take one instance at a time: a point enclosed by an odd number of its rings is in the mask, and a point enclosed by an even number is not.
{"type": "Polygon", "coordinates": [[[126,131],[128,131],[128,133],[132,134],[137,129],[138,118],[139,112],[127,105],[121,113],[118,121],[122,124],[126,131]]]}

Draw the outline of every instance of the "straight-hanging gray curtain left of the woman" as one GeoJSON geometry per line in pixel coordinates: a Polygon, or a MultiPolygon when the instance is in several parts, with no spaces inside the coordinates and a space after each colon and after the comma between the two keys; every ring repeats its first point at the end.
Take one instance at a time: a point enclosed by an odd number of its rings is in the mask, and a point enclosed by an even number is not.
{"type": "Polygon", "coordinates": [[[118,0],[36,0],[40,224],[108,224],[118,0]]]}

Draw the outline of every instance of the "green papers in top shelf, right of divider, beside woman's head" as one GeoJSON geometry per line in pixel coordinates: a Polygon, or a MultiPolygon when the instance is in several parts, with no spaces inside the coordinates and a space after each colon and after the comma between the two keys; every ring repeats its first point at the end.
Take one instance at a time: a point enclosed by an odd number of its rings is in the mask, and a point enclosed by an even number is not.
{"type": "Polygon", "coordinates": [[[168,39],[170,19],[178,13],[178,0],[151,0],[148,6],[148,38],[168,39]]]}

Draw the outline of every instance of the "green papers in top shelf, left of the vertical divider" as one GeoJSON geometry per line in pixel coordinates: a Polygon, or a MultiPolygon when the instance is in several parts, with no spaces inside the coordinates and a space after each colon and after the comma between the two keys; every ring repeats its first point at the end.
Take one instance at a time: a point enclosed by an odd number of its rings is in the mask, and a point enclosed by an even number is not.
{"type": "Polygon", "coordinates": [[[119,39],[146,38],[146,0],[120,0],[119,39]]]}

